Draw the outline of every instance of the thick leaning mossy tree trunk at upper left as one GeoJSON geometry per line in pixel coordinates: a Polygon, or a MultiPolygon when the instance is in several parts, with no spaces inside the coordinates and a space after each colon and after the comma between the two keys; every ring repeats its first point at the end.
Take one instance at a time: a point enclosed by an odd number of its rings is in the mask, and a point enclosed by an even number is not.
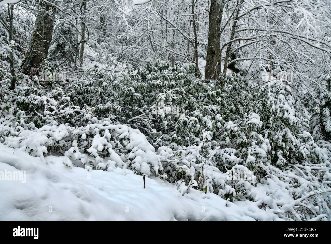
{"type": "Polygon", "coordinates": [[[53,9],[53,5],[48,1],[41,0],[39,4],[43,10],[36,16],[30,45],[19,69],[25,75],[38,69],[42,60],[47,58],[48,48],[52,40],[54,28],[52,15],[56,13],[56,9],[53,9]]]}

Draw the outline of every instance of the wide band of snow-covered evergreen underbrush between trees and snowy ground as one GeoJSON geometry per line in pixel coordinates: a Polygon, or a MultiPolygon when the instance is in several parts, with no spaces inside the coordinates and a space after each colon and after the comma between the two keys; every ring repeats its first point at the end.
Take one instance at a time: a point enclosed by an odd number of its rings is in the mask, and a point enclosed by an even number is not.
{"type": "Polygon", "coordinates": [[[20,77],[14,91],[4,75],[1,143],[41,159],[65,155],[68,167],[158,176],[183,195],[252,201],[284,219],[331,220],[331,147],[308,133],[289,86],[194,72],[158,62],[115,75],[96,65],[65,84],[20,77]]]}

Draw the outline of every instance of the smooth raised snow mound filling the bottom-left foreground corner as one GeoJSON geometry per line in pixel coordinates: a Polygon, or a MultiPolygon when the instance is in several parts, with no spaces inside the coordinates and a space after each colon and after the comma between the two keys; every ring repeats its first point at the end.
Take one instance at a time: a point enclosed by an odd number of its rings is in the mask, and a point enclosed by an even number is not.
{"type": "Polygon", "coordinates": [[[26,183],[0,181],[0,220],[124,220],[122,206],[56,173],[39,158],[0,147],[0,171],[25,171],[26,183]]]}

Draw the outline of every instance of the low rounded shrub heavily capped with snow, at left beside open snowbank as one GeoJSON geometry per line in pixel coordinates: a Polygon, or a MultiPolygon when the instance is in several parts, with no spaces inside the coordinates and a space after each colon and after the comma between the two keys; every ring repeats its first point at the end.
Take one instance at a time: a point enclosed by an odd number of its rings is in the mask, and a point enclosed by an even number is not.
{"type": "MultiPolygon", "coordinates": [[[[163,169],[145,135],[108,121],[79,128],[44,125],[40,129],[21,128],[9,133],[11,136],[5,137],[4,145],[40,157],[44,162],[45,154],[60,152],[73,161],[79,160],[87,170],[129,167],[138,174],[151,175],[152,170],[159,175],[163,169]]],[[[69,167],[67,160],[64,163],[69,167]]]]}

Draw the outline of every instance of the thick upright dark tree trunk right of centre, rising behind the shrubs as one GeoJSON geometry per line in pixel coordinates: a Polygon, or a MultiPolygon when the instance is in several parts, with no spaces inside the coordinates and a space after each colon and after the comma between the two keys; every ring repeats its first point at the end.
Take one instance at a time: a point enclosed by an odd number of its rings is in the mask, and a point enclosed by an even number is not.
{"type": "Polygon", "coordinates": [[[224,0],[211,0],[209,10],[208,45],[205,78],[218,79],[221,72],[220,63],[220,29],[223,15],[224,0]]]}

